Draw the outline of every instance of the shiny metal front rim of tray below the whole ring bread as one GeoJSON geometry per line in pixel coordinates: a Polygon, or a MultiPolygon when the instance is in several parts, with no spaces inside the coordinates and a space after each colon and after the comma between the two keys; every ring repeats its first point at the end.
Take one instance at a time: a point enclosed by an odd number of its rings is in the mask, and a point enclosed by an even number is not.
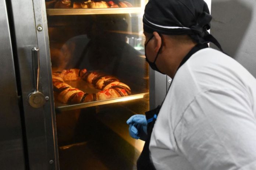
{"type": "Polygon", "coordinates": [[[115,98],[115,99],[100,100],[100,101],[93,101],[93,102],[88,102],[88,103],[80,103],[80,104],[72,104],[72,105],[62,104],[62,103],[56,101],[55,109],[57,112],[58,111],[61,112],[61,111],[75,110],[75,109],[81,109],[81,108],[86,108],[86,107],[91,107],[91,106],[99,106],[99,105],[103,105],[103,104],[117,103],[117,102],[121,102],[121,101],[142,99],[148,95],[149,95],[149,93],[140,93],[137,95],[119,97],[119,98],[115,98]]]}

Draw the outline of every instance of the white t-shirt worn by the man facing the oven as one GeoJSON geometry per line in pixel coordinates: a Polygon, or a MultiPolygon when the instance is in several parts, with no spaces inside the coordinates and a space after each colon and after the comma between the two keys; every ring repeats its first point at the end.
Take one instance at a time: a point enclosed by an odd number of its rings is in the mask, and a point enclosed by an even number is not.
{"type": "Polygon", "coordinates": [[[256,170],[256,80],[206,48],[177,71],[151,135],[157,170],[256,170]]]}

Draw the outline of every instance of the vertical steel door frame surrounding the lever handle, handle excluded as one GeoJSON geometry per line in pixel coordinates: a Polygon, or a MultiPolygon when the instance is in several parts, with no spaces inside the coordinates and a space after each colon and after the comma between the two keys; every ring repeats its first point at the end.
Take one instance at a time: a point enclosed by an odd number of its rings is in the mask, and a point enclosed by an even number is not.
{"type": "Polygon", "coordinates": [[[39,0],[11,1],[15,38],[21,77],[22,101],[28,146],[29,168],[36,170],[58,169],[57,144],[55,143],[54,104],[52,96],[49,49],[44,40],[46,37],[43,28],[46,18],[41,17],[42,2],[39,0]],[[35,6],[34,6],[35,5],[35,6]],[[40,13],[40,14],[39,14],[40,13]],[[35,17],[39,17],[36,18],[35,17]],[[41,27],[40,27],[41,26],[41,27]],[[43,38],[42,44],[37,38],[43,38]],[[28,95],[33,92],[33,70],[31,49],[40,49],[40,78],[39,91],[46,97],[46,103],[41,108],[32,108],[28,103],[28,95]]]}

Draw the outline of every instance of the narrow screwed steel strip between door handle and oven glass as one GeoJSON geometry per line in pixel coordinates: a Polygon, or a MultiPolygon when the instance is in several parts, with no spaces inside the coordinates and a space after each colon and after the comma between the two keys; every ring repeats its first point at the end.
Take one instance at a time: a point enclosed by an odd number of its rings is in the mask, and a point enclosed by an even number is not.
{"type": "Polygon", "coordinates": [[[47,137],[48,157],[54,159],[54,167],[59,169],[58,160],[58,145],[57,145],[57,130],[55,119],[55,108],[53,99],[53,86],[51,79],[51,60],[49,48],[49,36],[47,17],[45,9],[45,0],[34,0],[35,23],[37,29],[38,47],[40,49],[40,68],[42,92],[49,97],[49,101],[45,104],[45,128],[47,137]],[[42,27],[40,31],[39,27],[42,27]],[[53,158],[54,155],[54,158],[53,158]]]}

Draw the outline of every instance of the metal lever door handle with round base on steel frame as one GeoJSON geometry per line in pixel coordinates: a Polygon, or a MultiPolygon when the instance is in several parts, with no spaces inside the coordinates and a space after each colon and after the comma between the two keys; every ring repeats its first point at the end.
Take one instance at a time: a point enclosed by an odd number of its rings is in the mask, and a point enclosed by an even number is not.
{"type": "Polygon", "coordinates": [[[34,47],[32,49],[32,67],[33,67],[35,91],[28,95],[28,103],[30,104],[30,106],[34,108],[39,108],[45,104],[45,95],[43,95],[43,93],[38,91],[39,72],[40,72],[38,47],[34,47]]]}

